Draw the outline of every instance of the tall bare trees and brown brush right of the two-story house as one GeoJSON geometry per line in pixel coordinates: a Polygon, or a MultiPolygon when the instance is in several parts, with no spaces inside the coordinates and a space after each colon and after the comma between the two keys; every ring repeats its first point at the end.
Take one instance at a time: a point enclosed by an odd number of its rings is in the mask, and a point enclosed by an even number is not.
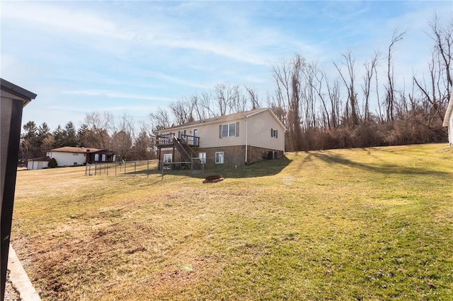
{"type": "Polygon", "coordinates": [[[374,52],[360,68],[352,52],[345,52],[339,63],[333,62],[333,77],[300,54],[274,66],[270,107],[287,127],[287,150],[445,141],[442,119],[452,90],[453,22],[442,27],[434,17],[430,29],[434,47],[428,78],[413,75],[409,91],[397,87],[394,76],[394,49],[405,35],[397,30],[384,58],[374,52]],[[380,83],[377,69],[383,63],[386,76],[380,83]],[[377,104],[374,111],[372,103],[377,104]]]}

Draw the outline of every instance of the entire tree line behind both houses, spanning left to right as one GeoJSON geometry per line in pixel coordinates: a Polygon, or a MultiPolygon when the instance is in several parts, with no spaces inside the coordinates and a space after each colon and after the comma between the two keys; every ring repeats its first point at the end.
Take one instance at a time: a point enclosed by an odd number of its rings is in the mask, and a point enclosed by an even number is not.
{"type": "Polygon", "coordinates": [[[395,30],[385,54],[374,52],[357,64],[353,52],[342,53],[332,63],[333,74],[301,54],[276,64],[275,87],[265,100],[254,88],[219,83],[151,112],[142,122],[108,112],[87,113],[78,130],[72,122],[53,132],[45,123],[28,122],[21,158],[45,155],[60,146],[109,148],[125,160],[155,158],[154,137],[163,129],[263,106],[285,125],[287,151],[446,141],[442,119],[453,85],[453,20],[442,25],[434,16],[429,25],[433,46],[428,72],[413,74],[407,90],[405,83],[396,81],[401,71],[394,66],[394,51],[406,33],[395,30]]]}

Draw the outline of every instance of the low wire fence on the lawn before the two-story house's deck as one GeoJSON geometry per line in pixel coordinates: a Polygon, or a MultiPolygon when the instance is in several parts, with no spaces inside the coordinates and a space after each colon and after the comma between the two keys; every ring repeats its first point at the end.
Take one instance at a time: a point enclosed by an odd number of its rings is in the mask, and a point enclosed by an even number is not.
{"type": "Polygon", "coordinates": [[[166,174],[204,174],[244,165],[243,156],[226,156],[222,158],[193,158],[191,162],[164,162],[159,160],[120,161],[112,163],[87,164],[85,175],[150,177],[166,174]]]}

